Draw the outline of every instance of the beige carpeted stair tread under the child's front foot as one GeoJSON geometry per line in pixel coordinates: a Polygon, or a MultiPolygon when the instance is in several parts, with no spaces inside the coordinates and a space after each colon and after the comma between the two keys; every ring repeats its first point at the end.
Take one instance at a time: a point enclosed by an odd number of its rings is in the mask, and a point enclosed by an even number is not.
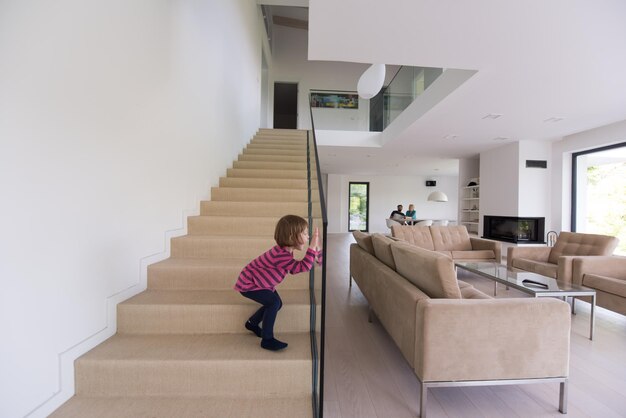
{"type": "MultiPolygon", "coordinates": [[[[245,331],[242,324],[242,330],[245,331]]],[[[308,332],[277,334],[289,343],[279,353],[263,350],[251,332],[236,334],[116,334],[77,362],[311,361],[308,332]],[[280,356],[280,358],[277,357],[280,356]]]]}

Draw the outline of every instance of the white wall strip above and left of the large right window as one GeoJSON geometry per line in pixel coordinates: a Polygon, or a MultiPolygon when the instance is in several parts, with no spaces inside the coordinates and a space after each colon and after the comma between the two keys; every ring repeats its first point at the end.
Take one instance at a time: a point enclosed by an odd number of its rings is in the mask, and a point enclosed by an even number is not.
{"type": "MultiPolygon", "coordinates": [[[[572,154],[626,141],[626,120],[564,137],[552,145],[551,229],[570,231],[572,154]]],[[[548,225],[546,225],[547,229],[548,225]]]]}

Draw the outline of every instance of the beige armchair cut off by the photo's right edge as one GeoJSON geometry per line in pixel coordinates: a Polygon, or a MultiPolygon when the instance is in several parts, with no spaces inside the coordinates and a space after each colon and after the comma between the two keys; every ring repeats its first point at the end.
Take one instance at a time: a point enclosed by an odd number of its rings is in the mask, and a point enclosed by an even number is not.
{"type": "Polygon", "coordinates": [[[598,306],[626,315],[626,257],[574,258],[572,283],[595,289],[598,306]]]}

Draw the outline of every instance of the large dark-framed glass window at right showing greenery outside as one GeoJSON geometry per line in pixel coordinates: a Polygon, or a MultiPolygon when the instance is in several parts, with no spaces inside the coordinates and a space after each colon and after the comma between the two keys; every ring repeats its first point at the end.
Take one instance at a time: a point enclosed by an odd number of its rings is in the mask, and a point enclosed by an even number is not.
{"type": "Polygon", "coordinates": [[[619,238],[626,255],[626,143],[575,153],[572,231],[619,238]]]}

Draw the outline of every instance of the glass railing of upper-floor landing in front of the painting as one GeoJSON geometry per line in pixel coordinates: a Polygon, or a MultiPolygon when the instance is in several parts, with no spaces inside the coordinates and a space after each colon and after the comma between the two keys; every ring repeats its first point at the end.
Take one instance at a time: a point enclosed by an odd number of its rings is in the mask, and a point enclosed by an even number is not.
{"type": "Polygon", "coordinates": [[[315,120],[318,130],[382,132],[441,74],[442,68],[399,67],[369,100],[355,91],[311,90],[311,124],[315,120]]]}

